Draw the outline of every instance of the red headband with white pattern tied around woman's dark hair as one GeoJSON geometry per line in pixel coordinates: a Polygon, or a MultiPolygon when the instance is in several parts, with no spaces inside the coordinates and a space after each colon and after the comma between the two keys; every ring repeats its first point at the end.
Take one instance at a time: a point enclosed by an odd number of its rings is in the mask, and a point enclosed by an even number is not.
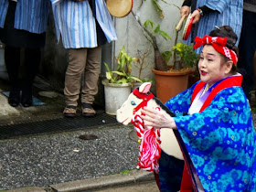
{"type": "Polygon", "coordinates": [[[217,50],[220,54],[226,56],[228,59],[232,60],[236,65],[238,62],[238,56],[235,51],[226,47],[228,37],[210,37],[205,36],[203,38],[196,37],[194,48],[197,49],[202,45],[211,45],[215,50],[217,50]]]}

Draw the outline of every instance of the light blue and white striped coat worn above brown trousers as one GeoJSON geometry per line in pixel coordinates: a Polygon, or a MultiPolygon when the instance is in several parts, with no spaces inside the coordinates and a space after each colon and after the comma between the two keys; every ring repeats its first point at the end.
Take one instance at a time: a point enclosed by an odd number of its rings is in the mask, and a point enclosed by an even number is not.
{"type": "MultiPolygon", "coordinates": [[[[96,48],[95,18],[88,1],[51,0],[56,35],[64,48],[96,48]]],[[[104,0],[95,0],[96,19],[108,42],[117,39],[116,31],[104,0]]]]}

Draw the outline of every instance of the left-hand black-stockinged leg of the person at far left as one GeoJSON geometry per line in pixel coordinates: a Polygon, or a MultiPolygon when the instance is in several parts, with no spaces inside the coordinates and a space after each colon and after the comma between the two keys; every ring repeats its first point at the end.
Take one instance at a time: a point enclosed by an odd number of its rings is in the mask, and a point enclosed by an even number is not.
{"type": "Polygon", "coordinates": [[[19,80],[18,71],[20,65],[20,48],[13,48],[5,46],[5,65],[10,80],[11,90],[8,102],[11,106],[16,107],[19,105],[19,80]]]}

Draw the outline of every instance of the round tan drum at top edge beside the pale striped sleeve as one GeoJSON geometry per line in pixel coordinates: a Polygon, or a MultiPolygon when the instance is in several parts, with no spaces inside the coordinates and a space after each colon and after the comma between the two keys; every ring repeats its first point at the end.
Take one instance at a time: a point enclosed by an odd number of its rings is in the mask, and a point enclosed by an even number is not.
{"type": "Polygon", "coordinates": [[[112,16],[127,16],[133,8],[133,0],[107,0],[107,8],[112,16]]]}

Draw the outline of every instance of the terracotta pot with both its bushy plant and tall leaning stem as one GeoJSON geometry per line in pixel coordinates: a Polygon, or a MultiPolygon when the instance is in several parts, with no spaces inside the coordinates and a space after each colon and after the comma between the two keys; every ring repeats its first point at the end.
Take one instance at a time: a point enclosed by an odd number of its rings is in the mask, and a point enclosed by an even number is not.
{"type": "Polygon", "coordinates": [[[191,69],[188,67],[197,65],[197,55],[195,55],[192,47],[183,43],[177,43],[178,31],[176,31],[174,48],[161,54],[155,36],[160,35],[166,40],[171,37],[160,29],[159,24],[154,28],[154,22],[146,20],[144,25],[142,25],[140,18],[134,13],[133,16],[143,28],[147,40],[149,40],[154,47],[155,67],[152,71],[155,73],[156,96],[161,101],[165,102],[174,97],[177,93],[187,89],[188,75],[191,73],[191,69]],[[191,54],[193,54],[192,57],[195,58],[193,62],[190,62],[189,57],[191,54]],[[168,66],[167,60],[170,59],[171,56],[173,57],[173,65],[168,66]]]}

